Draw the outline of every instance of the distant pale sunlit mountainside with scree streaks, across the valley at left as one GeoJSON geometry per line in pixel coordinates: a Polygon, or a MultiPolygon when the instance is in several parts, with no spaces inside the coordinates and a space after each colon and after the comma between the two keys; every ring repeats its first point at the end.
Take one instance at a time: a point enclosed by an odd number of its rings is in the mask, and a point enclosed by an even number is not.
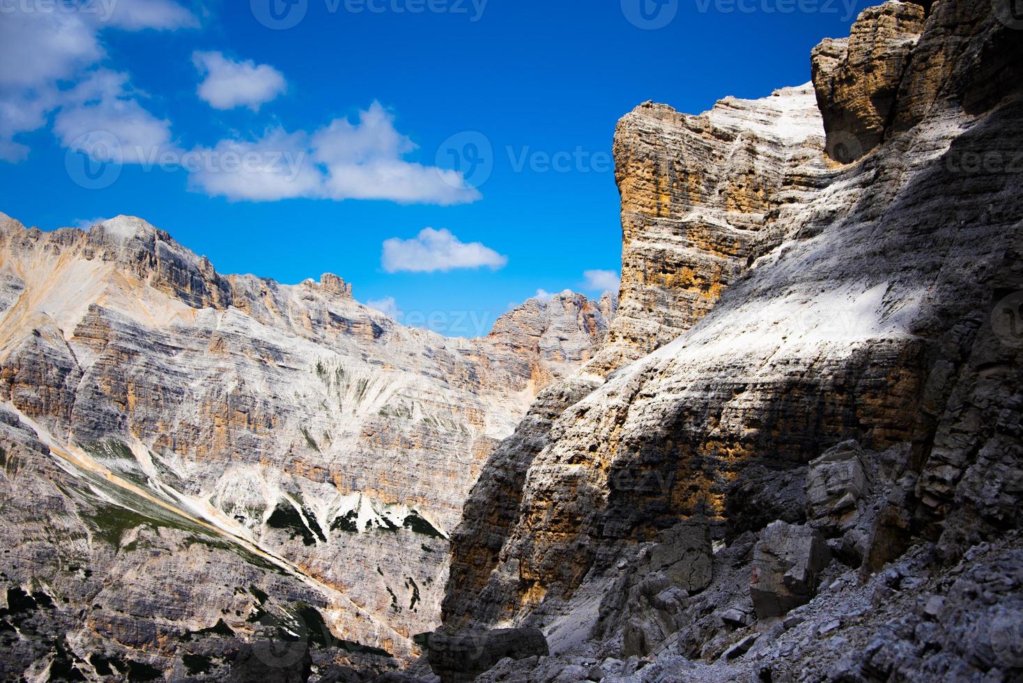
{"type": "Polygon", "coordinates": [[[0,216],[0,273],[2,579],[8,602],[55,604],[26,618],[39,638],[4,636],[3,678],[57,659],[217,678],[261,620],[407,659],[484,461],[610,323],[565,292],[443,338],[335,275],[221,275],[128,217],[0,216]]]}

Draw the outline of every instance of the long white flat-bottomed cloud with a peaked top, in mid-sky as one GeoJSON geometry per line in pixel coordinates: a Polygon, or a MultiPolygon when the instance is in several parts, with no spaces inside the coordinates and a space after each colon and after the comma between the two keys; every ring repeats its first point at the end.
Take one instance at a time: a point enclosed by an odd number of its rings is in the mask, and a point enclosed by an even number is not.
{"type": "Polygon", "coordinates": [[[198,149],[214,155],[230,150],[268,163],[234,173],[204,169],[193,174],[190,185],[249,201],[305,197],[448,206],[480,198],[460,173],[403,158],[414,149],[415,144],[395,129],[394,117],[373,102],[356,124],[338,119],[312,134],[273,129],[255,140],[222,140],[213,148],[198,149]],[[270,164],[272,160],[277,163],[270,164]]]}

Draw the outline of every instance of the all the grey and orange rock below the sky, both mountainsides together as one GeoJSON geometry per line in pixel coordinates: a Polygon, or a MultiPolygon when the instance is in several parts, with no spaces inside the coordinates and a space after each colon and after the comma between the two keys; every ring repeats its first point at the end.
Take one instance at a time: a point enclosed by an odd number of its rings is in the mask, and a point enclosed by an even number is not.
{"type": "Polygon", "coordinates": [[[443,598],[479,681],[1019,680],[996,9],[886,3],[812,86],[627,115],[614,321],[443,339],[138,219],[0,220],[0,677],[436,683],[396,670],[443,598]]]}

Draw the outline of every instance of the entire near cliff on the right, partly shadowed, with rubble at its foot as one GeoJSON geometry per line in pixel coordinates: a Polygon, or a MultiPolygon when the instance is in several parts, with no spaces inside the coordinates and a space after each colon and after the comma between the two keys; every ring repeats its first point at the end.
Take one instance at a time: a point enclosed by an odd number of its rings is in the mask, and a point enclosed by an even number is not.
{"type": "Polygon", "coordinates": [[[924,14],[864,10],[813,90],[619,125],[619,315],[484,468],[444,602],[552,654],[479,680],[1020,674],[1023,39],[924,14]],[[650,568],[683,519],[706,589],[650,568]]]}

